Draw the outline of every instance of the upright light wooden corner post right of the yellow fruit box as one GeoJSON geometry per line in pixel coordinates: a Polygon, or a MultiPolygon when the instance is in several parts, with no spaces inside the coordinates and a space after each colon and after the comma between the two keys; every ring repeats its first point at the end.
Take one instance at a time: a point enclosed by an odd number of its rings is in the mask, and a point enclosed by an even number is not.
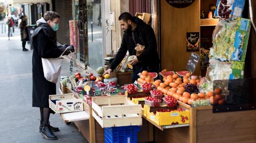
{"type": "Polygon", "coordinates": [[[189,122],[189,142],[197,142],[197,109],[190,108],[190,122],[189,122]]]}

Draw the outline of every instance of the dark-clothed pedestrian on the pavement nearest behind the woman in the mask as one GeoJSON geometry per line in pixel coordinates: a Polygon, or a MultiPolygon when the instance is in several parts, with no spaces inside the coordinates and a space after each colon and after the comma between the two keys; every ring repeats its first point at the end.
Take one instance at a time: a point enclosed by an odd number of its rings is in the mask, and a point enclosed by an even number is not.
{"type": "Polygon", "coordinates": [[[28,31],[28,25],[27,25],[27,19],[26,16],[22,16],[22,21],[19,23],[20,28],[20,38],[22,40],[22,50],[27,51],[26,49],[26,42],[29,41],[29,31],[28,31]]]}

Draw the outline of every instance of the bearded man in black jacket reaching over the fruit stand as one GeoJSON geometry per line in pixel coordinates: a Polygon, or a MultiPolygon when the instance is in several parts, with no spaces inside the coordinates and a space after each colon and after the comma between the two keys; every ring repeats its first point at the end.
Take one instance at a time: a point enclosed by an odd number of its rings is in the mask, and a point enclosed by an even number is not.
{"type": "Polygon", "coordinates": [[[122,43],[110,69],[106,70],[104,74],[110,74],[121,63],[127,50],[130,55],[136,55],[135,47],[137,44],[144,45],[145,50],[139,56],[135,56],[131,62],[133,65],[133,82],[139,78],[138,73],[143,70],[158,72],[160,60],[153,28],[128,12],[122,13],[118,20],[124,30],[122,43]]]}

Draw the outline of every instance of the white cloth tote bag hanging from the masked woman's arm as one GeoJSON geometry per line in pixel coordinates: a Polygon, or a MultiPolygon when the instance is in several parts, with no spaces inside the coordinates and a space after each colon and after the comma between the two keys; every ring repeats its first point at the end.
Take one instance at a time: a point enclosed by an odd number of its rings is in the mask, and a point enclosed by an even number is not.
{"type": "MultiPolygon", "coordinates": [[[[66,48],[66,50],[67,49],[68,47],[66,48]]],[[[63,62],[62,54],[59,56],[59,58],[41,58],[44,76],[50,82],[57,83],[58,81],[61,65],[63,62]]]]}

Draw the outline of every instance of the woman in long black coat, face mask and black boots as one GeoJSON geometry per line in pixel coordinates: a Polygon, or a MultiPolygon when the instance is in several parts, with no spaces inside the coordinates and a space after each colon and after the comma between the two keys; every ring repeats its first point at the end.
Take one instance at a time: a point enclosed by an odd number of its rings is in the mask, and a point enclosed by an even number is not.
{"type": "Polygon", "coordinates": [[[73,46],[56,46],[56,31],[58,30],[59,15],[56,12],[46,12],[44,18],[37,20],[38,27],[31,37],[33,97],[32,106],[40,107],[41,122],[39,132],[46,139],[57,139],[52,131],[58,131],[50,126],[49,95],[56,94],[56,84],[48,81],[44,76],[41,58],[58,58],[62,53],[68,55],[74,52],[73,46]],[[66,50],[67,48],[67,50],[66,50]],[[66,50],[66,51],[65,51],[66,50]]]}

